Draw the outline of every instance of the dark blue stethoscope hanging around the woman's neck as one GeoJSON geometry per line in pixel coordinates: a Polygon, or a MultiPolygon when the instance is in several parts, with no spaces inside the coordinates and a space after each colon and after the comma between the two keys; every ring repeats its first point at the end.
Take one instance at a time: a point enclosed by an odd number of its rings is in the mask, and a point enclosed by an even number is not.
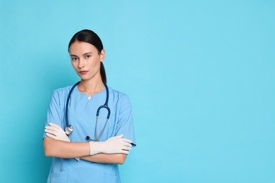
{"type": "MultiPolygon", "coordinates": [[[[73,85],[73,87],[71,88],[69,94],[68,94],[68,97],[67,97],[67,101],[66,101],[66,108],[65,108],[65,120],[66,120],[66,128],[65,128],[65,133],[67,135],[71,134],[71,132],[73,132],[73,125],[69,125],[68,123],[68,103],[71,99],[71,94],[73,92],[73,89],[78,86],[78,83],[75,83],[75,85],[73,85]]],[[[110,108],[108,107],[108,101],[109,101],[109,89],[107,87],[107,85],[105,83],[103,83],[105,88],[106,88],[106,101],[105,103],[102,105],[102,106],[99,106],[99,108],[97,108],[97,119],[95,121],[95,139],[92,139],[90,138],[89,136],[86,137],[87,140],[90,140],[90,141],[99,141],[100,137],[102,137],[102,134],[104,133],[104,130],[106,128],[106,125],[107,125],[107,122],[109,120],[109,117],[110,117],[110,114],[111,114],[111,110],[110,108]],[[106,122],[105,122],[105,125],[102,129],[102,132],[100,132],[99,136],[97,137],[97,120],[98,120],[98,116],[99,116],[99,112],[100,112],[100,109],[102,108],[106,108],[108,110],[108,115],[107,115],[107,118],[106,118],[106,122]]]]}

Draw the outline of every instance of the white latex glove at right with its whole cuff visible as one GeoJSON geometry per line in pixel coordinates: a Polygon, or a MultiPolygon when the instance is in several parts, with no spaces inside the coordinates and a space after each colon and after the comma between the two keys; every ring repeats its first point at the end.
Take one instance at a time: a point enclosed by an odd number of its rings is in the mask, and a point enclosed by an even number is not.
{"type": "Polygon", "coordinates": [[[97,153],[125,153],[128,154],[131,150],[129,139],[123,139],[123,134],[116,137],[111,137],[106,141],[90,141],[90,155],[97,153]]]}

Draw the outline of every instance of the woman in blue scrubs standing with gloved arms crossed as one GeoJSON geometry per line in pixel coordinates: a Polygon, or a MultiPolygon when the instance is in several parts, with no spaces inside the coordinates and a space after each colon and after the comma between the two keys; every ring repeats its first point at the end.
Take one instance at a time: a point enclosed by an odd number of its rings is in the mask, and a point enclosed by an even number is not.
{"type": "Polygon", "coordinates": [[[129,98],[105,87],[106,73],[102,41],[91,30],[77,32],[68,44],[71,64],[80,77],[68,103],[68,121],[73,132],[67,136],[66,100],[72,86],[56,89],[49,103],[44,130],[44,152],[53,156],[47,182],[121,182],[118,164],[123,164],[135,146],[133,118],[129,98]],[[107,89],[111,114],[102,109],[97,122],[97,108],[106,101],[107,89]]]}

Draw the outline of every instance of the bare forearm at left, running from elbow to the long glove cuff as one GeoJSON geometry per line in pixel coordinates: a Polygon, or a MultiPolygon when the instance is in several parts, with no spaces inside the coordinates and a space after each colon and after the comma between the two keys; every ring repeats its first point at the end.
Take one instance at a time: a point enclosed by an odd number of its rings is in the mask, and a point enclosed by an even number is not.
{"type": "Polygon", "coordinates": [[[90,155],[89,142],[68,142],[44,138],[45,156],[57,158],[75,158],[90,155]]]}

